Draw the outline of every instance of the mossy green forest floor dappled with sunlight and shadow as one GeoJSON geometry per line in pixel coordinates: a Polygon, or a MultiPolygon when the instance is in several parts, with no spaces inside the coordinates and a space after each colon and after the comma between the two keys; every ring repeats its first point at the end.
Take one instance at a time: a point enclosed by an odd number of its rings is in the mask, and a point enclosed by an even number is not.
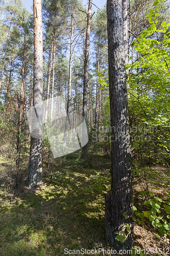
{"type": "MultiPolygon", "coordinates": [[[[110,165],[110,156],[94,154],[92,159],[83,161],[80,153],[74,153],[54,160],[49,168],[44,165],[43,183],[35,189],[28,189],[26,184],[11,193],[1,189],[0,255],[85,255],[66,252],[110,249],[105,240],[104,212],[104,195],[110,190],[110,165]]],[[[168,178],[166,167],[153,166],[153,171],[168,178]]],[[[162,199],[168,191],[163,178],[156,188],[155,183],[148,184],[149,191],[162,199]]],[[[143,201],[147,196],[140,194],[144,189],[146,182],[141,172],[133,183],[138,211],[145,210],[143,201]]],[[[168,239],[159,235],[148,219],[145,225],[134,223],[134,247],[145,249],[150,255],[158,255],[152,253],[153,248],[154,252],[165,248],[161,255],[170,253],[168,239]]]]}

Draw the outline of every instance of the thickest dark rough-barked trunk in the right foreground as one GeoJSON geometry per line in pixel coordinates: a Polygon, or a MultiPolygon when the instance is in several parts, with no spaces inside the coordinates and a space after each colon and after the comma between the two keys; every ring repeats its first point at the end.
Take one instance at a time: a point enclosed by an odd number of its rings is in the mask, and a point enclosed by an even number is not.
{"type": "MultiPolygon", "coordinates": [[[[122,5],[122,0],[107,0],[112,164],[111,191],[105,196],[105,233],[109,245],[117,250],[116,255],[119,255],[119,250],[129,250],[133,245],[133,194],[122,5]],[[123,214],[128,217],[125,218],[123,214]],[[116,238],[116,232],[121,234],[121,231],[125,231],[127,236],[123,243],[116,238]]],[[[124,255],[128,255],[128,252],[124,255]]]]}

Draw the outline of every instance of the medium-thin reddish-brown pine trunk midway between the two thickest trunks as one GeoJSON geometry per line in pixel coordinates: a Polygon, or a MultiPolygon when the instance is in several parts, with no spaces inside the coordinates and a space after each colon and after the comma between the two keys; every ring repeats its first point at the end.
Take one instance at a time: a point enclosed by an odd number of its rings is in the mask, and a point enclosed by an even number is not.
{"type": "MultiPolygon", "coordinates": [[[[86,45],[84,58],[84,90],[83,90],[83,117],[87,125],[87,101],[88,101],[88,62],[89,62],[89,44],[90,44],[90,20],[91,20],[92,0],[88,2],[86,45]]],[[[82,158],[87,158],[87,144],[82,147],[82,158]]]]}

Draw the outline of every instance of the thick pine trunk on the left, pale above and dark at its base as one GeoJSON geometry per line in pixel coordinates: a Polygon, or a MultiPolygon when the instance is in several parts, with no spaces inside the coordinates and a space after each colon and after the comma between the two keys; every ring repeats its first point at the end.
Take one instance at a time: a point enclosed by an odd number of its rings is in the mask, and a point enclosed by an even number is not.
{"type": "MultiPolygon", "coordinates": [[[[34,10],[34,83],[33,106],[42,102],[43,93],[43,45],[42,45],[42,16],[41,0],[33,0],[34,10]]],[[[38,114],[36,111],[36,116],[38,114]]],[[[40,125],[42,126],[42,120],[40,125]]],[[[28,187],[31,188],[42,182],[42,131],[39,138],[31,137],[30,161],[28,170],[28,187]]]]}

